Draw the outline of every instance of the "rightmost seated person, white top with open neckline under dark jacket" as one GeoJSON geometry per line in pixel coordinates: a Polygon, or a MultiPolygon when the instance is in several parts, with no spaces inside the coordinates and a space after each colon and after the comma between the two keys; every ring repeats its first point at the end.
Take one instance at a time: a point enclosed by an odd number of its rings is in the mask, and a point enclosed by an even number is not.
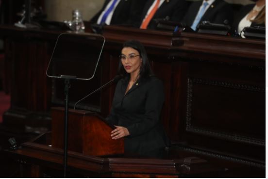
{"type": "Polygon", "coordinates": [[[254,26],[265,27],[265,0],[257,0],[254,4],[245,5],[235,18],[234,28],[239,34],[244,27],[254,26]]]}

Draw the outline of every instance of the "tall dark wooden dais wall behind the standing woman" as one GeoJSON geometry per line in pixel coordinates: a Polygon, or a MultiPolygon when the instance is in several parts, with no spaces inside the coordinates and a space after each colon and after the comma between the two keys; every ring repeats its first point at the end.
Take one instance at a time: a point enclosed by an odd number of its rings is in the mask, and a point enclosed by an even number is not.
{"type": "MultiPolygon", "coordinates": [[[[11,79],[5,125],[39,132],[51,129],[50,108],[63,105],[64,88],[62,81],[49,79],[45,72],[60,33],[0,26],[0,36],[8,44],[11,79]]],[[[103,35],[106,44],[96,79],[73,84],[70,105],[113,79],[122,43],[137,39],[164,82],[162,121],[173,146],[264,171],[265,41],[117,26],[105,27],[103,35]]],[[[79,108],[105,117],[114,90],[115,85],[110,85],[79,108]]],[[[247,171],[253,177],[262,173],[247,171]]],[[[242,169],[236,172],[243,173],[242,169]]]]}

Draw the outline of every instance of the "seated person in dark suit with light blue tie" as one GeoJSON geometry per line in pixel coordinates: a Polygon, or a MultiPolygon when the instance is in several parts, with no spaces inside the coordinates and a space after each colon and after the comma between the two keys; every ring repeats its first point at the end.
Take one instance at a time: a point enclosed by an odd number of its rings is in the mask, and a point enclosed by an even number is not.
{"type": "Polygon", "coordinates": [[[196,31],[197,25],[202,21],[216,24],[232,23],[233,9],[224,0],[194,1],[188,8],[182,23],[196,31]]]}

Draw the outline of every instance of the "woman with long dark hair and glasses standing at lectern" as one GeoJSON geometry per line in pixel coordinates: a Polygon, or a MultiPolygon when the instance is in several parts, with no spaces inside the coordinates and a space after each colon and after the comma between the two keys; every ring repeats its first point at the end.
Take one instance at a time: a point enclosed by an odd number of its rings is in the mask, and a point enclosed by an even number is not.
{"type": "Polygon", "coordinates": [[[111,113],[106,118],[117,127],[111,137],[125,138],[125,153],[157,157],[168,144],[160,121],[163,83],[153,76],[140,42],[125,42],[120,61],[118,73],[123,79],[117,83],[111,113]]]}

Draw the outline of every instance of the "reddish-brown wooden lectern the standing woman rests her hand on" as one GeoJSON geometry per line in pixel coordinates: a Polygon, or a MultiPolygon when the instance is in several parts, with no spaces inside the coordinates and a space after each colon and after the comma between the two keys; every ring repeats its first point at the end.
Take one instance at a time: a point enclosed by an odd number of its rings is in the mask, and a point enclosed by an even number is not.
{"type": "MultiPolygon", "coordinates": [[[[53,147],[64,146],[64,108],[51,108],[53,147]]],[[[69,109],[68,150],[84,155],[105,156],[124,153],[124,139],[113,140],[113,126],[97,114],[69,109]]]]}

